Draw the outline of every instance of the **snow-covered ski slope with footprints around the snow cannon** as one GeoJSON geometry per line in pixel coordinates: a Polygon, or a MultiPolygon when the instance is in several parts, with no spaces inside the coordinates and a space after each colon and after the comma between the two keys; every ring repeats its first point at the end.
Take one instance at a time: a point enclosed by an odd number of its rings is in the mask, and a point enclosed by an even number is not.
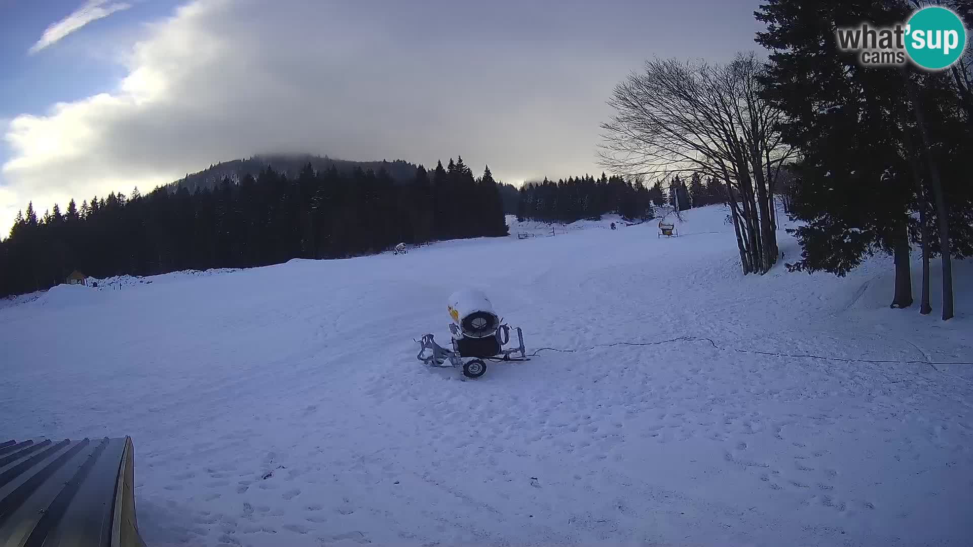
{"type": "Polygon", "coordinates": [[[153,546],[973,543],[973,366],[767,354],[973,362],[973,265],[942,322],[884,258],[744,277],[724,215],[56,287],[0,309],[0,436],[131,435],[153,546]],[[576,351],[424,369],[466,285],[576,351]]]}

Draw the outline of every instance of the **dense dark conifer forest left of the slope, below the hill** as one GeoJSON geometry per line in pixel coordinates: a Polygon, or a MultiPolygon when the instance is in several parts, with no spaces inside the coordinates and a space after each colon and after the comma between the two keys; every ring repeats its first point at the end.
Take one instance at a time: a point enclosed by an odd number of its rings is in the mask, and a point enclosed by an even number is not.
{"type": "Polygon", "coordinates": [[[247,268],[293,258],[343,258],[399,242],[507,235],[499,185],[461,158],[412,180],[307,164],[268,166],[211,190],[161,187],[18,214],[0,241],[0,296],[49,288],[74,270],[94,277],[247,268]]]}

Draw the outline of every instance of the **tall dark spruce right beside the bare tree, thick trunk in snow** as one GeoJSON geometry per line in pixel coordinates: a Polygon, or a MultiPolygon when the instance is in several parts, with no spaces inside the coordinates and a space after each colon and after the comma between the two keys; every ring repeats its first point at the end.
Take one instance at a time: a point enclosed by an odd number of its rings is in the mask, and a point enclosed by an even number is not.
{"type": "Polygon", "coordinates": [[[758,43],[774,51],[765,97],[788,117],[784,139],[804,153],[793,212],[800,261],[790,270],[844,275],[864,256],[895,257],[893,307],[912,304],[909,211],[914,185],[900,154],[895,116],[905,94],[895,70],[864,68],[839,51],[838,26],[904,20],[904,2],[822,0],[813,6],[769,0],[756,17],[768,23],[758,43]]]}

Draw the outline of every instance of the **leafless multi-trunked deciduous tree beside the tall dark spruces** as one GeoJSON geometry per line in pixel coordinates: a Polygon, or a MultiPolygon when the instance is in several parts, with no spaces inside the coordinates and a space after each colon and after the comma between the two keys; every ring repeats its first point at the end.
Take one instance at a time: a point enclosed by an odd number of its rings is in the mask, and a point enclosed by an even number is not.
{"type": "Polygon", "coordinates": [[[729,64],[655,59],[615,87],[602,124],[600,161],[614,171],[661,178],[701,171],[722,180],[743,274],[777,260],[774,184],[793,154],[777,130],[782,114],[760,97],[764,64],[754,53],[729,64]]]}

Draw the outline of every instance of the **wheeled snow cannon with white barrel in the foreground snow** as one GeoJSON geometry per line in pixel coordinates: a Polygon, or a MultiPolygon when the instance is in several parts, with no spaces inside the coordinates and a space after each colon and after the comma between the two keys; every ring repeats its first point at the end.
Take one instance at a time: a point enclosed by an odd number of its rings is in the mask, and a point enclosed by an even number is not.
{"type": "Polygon", "coordinates": [[[451,349],[436,344],[431,334],[416,341],[419,352],[415,358],[430,367],[463,367],[466,378],[480,378],[486,373],[486,360],[526,361],[523,332],[515,327],[519,346],[507,347],[511,327],[503,323],[486,295],[475,289],[456,291],[450,295],[451,349]]]}

